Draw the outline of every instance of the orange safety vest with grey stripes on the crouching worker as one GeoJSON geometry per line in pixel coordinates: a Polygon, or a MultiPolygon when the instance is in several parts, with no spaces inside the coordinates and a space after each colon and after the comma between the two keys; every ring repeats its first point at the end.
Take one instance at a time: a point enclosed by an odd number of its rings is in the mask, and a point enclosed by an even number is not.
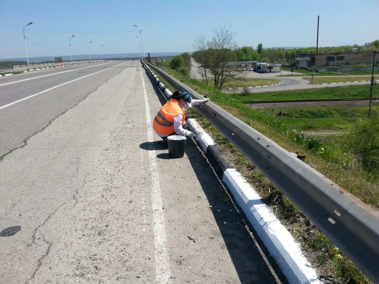
{"type": "Polygon", "coordinates": [[[174,119],[172,116],[178,114],[183,115],[182,122],[184,122],[186,112],[184,108],[179,105],[179,101],[172,98],[164,104],[160,111],[158,111],[157,115],[155,115],[153,120],[153,130],[161,135],[169,135],[174,133],[174,119]]]}

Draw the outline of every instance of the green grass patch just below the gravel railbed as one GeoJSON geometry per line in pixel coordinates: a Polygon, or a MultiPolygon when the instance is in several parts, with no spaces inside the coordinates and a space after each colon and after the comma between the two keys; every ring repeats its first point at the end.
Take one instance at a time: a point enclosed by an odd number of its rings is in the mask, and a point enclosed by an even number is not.
{"type": "MultiPolygon", "coordinates": [[[[321,108],[279,108],[264,109],[282,123],[296,130],[348,130],[358,118],[366,117],[368,108],[355,106],[334,106],[321,108]]],[[[373,109],[373,114],[376,112],[373,109]]]]}

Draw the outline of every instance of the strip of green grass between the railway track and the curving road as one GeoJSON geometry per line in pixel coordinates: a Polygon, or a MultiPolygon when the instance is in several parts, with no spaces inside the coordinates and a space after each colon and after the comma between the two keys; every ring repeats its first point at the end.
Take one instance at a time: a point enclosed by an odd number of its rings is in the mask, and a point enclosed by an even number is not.
{"type": "MultiPolygon", "coordinates": [[[[236,101],[266,101],[266,100],[312,100],[329,98],[366,98],[370,95],[369,85],[337,86],[291,91],[252,93],[241,96],[232,95],[236,101]]],[[[374,86],[373,97],[379,97],[379,87],[374,86]]]]}

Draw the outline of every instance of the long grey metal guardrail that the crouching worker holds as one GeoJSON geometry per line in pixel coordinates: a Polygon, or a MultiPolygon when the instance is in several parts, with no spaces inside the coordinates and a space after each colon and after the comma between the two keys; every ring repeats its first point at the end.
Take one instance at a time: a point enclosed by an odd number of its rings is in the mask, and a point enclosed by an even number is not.
{"type": "MultiPolygon", "coordinates": [[[[172,87],[200,94],[146,62],[172,87]]],[[[268,137],[208,102],[195,106],[365,275],[379,283],[379,213],[268,137]]]]}

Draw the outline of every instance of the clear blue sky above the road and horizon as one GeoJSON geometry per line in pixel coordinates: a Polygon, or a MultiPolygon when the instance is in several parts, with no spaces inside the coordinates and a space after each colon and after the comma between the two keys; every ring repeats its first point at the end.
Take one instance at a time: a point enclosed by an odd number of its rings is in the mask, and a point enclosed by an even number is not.
{"type": "Polygon", "coordinates": [[[70,31],[26,31],[28,55],[73,55],[91,53],[138,53],[138,30],[143,28],[146,52],[193,51],[196,34],[210,38],[214,28],[226,26],[238,45],[256,47],[315,46],[317,16],[320,16],[319,46],[364,44],[379,38],[377,0],[352,1],[9,1],[0,0],[0,58],[25,57],[22,28],[70,31]],[[128,33],[94,33],[132,31],[128,33]]]}

